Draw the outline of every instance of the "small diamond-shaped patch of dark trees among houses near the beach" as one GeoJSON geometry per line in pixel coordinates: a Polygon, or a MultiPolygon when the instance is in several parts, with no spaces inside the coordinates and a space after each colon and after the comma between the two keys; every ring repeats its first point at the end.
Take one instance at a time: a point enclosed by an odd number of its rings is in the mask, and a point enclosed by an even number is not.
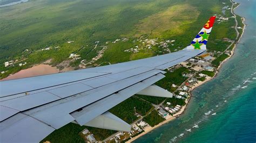
{"type": "Polygon", "coordinates": [[[158,115],[158,112],[156,110],[152,110],[151,113],[143,118],[144,121],[146,121],[147,124],[150,126],[155,126],[165,119],[158,115]]]}

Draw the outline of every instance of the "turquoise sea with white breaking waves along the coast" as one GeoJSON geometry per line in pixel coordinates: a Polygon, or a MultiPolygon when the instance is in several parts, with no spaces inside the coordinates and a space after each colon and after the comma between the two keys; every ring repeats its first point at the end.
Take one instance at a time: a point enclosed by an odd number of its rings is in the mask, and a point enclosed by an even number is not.
{"type": "Polygon", "coordinates": [[[134,142],[256,142],[256,0],[237,0],[244,35],[216,78],[193,91],[183,115],[134,142]]]}

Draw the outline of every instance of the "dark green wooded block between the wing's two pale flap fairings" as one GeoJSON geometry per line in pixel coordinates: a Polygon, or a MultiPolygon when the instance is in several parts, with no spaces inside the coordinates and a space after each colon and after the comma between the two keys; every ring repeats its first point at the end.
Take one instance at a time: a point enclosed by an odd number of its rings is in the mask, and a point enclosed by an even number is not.
{"type": "Polygon", "coordinates": [[[127,123],[131,124],[138,119],[138,117],[135,116],[134,108],[136,109],[136,112],[139,113],[139,115],[144,116],[153,108],[153,106],[150,103],[142,101],[141,99],[131,97],[114,106],[109,111],[127,123]]]}

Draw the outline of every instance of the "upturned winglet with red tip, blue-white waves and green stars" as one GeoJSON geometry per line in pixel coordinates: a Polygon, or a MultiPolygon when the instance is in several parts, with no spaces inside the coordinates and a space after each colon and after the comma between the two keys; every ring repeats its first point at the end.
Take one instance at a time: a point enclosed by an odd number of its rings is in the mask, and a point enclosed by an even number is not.
{"type": "Polygon", "coordinates": [[[205,49],[206,50],[206,44],[208,41],[208,38],[210,36],[215,16],[212,16],[208,22],[204,25],[204,27],[200,30],[200,32],[196,35],[193,41],[191,41],[191,44],[187,46],[185,49],[205,49]]]}

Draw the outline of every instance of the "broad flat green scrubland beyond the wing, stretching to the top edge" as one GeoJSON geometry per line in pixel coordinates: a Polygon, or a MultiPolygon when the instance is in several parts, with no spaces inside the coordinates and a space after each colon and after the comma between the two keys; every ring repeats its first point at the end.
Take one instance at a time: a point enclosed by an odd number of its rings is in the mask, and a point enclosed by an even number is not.
{"type": "MultiPolygon", "coordinates": [[[[90,60],[97,55],[99,49],[92,49],[98,40],[99,46],[107,46],[108,49],[96,65],[163,54],[158,53],[158,47],[153,47],[153,51],[134,54],[124,52],[125,49],[134,47],[132,39],[141,35],[145,35],[145,38],[158,38],[159,41],[174,39],[176,42],[169,47],[170,51],[182,49],[190,43],[210,16],[221,14],[224,6],[221,2],[228,3],[227,0],[30,0],[0,8],[0,63],[8,60],[28,63],[27,66],[18,68],[18,63],[9,68],[0,64],[0,71],[8,70],[1,78],[49,59],[52,59],[52,65],[57,65],[79,49],[80,60],[90,60]],[[118,38],[130,40],[111,43],[118,38]],[[67,41],[70,40],[75,42],[68,44],[67,41]],[[110,41],[109,44],[106,41],[110,41]],[[56,46],[60,48],[37,51],[56,46]],[[23,52],[25,49],[29,49],[29,52],[23,52]]],[[[230,12],[226,11],[226,16],[231,16],[230,12]]],[[[209,51],[224,51],[228,43],[223,38],[234,38],[232,25],[232,19],[215,24],[208,41],[209,51]]],[[[78,66],[80,60],[71,65],[78,66]]]]}

